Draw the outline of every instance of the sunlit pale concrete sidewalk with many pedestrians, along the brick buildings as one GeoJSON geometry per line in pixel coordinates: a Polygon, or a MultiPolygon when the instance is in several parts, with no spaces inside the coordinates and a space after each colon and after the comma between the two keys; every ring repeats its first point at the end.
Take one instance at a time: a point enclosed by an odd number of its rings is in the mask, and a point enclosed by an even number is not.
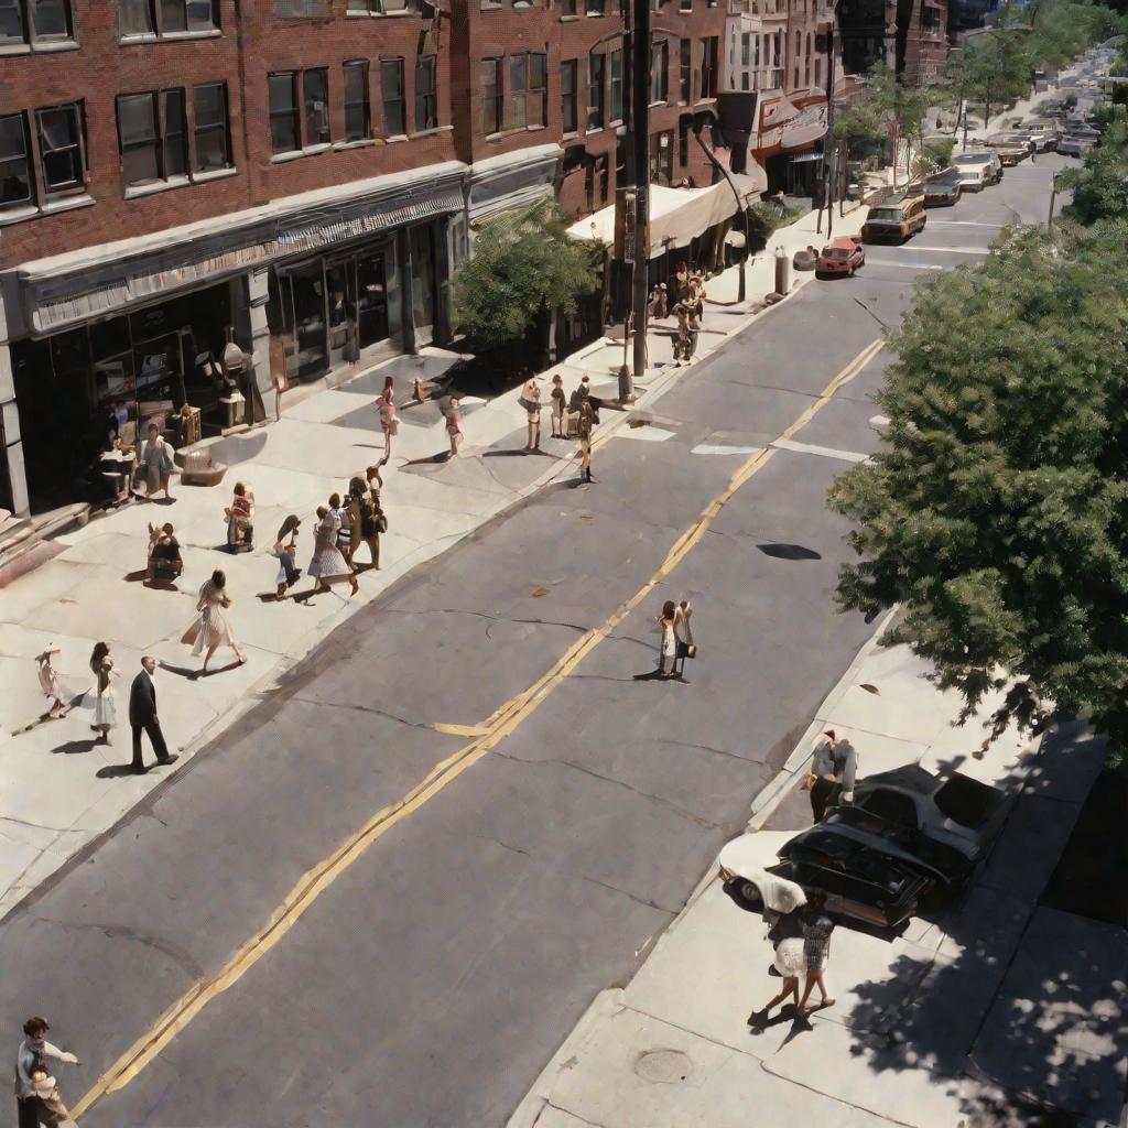
{"type": "MultiPolygon", "coordinates": [[[[835,220],[836,230],[856,230],[861,213],[835,220]],[[851,227],[853,224],[853,227],[851,227]]],[[[766,252],[748,267],[748,300],[735,301],[737,270],[708,283],[710,305],[697,359],[759,316],[763,297],[774,289],[774,247],[788,255],[816,241],[814,215],[777,232],[766,252]]],[[[811,281],[795,274],[793,288],[811,281]]],[[[650,368],[637,381],[637,408],[651,407],[672,380],[689,368],[670,363],[671,337],[664,325],[647,337],[650,368]]],[[[381,537],[380,572],[360,575],[360,593],[335,588],[306,602],[275,603],[272,593],[276,561],[268,555],[274,535],[289,513],[302,518],[298,564],[305,569],[312,547],[314,510],[351,476],[384,456],[384,439],[373,407],[388,373],[404,399],[412,378],[448,368],[456,354],[425,350],[422,356],[398,356],[359,372],[341,387],[289,397],[282,418],[266,428],[218,441],[214,457],[229,464],[215,487],[180,485],[173,479],[171,504],[131,503],[96,517],[88,526],[51,543],[53,558],[0,590],[0,916],[97,838],[148,794],[167,769],[148,775],[127,772],[130,730],[126,723],[130,682],[142,654],[161,663],[158,675],[161,726],[180,760],[219,737],[238,715],[270,695],[279,679],[335,627],[344,623],[400,576],[457,544],[484,523],[546,483],[574,473],[574,442],[543,439],[540,456],[509,457],[525,446],[525,412],[514,388],[485,400],[462,400],[464,444],[457,459],[446,461],[443,421],[433,403],[406,406],[391,458],[384,469],[384,502],[389,531],[381,537]],[[223,508],[236,481],[255,491],[256,548],[230,556],[221,550],[223,508]],[[171,521],[185,558],[175,591],[141,583],[147,526],[171,521]],[[217,654],[206,679],[195,671],[200,659],[178,642],[194,618],[196,592],[214,569],[223,569],[233,606],[229,617],[248,662],[223,670],[226,652],[217,654]],[[109,643],[121,679],[115,685],[118,725],[114,743],[94,742],[92,698],[62,720],[43,720],[44,702],[36,682],[34,656],[54,644],[64,687],[81,694],[92,684],[88,661],[94,644],[109,643]]],[[[605,338],[570,356],[540,377],[543,402],[558,371],[571,391],[585,372],[597,395],[617,396],[616,374],[623,362],[622,341],[605,338]]],[[[613,438],[627,413],[606,411],[597,443],[613,438]]],[[[543,428],[547,435],[547,412],[543,428]]],[[[367,561],[367,549],[360,552],[367,561]]],[[[299,591],[311,582],[302,580],[299,591]]],[[[151,763],[151,752],[147,750],[151,763]]]]}

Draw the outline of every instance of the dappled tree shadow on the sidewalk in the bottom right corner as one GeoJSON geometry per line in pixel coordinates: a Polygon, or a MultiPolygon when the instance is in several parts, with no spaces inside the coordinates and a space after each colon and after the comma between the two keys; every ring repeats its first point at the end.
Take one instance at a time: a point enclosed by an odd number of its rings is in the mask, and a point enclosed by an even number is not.
{"type": "Polygon", "coordinates": [[[1085,774],[1068,744],[1043,747],[972,884],[914,922],[916,942],[881,980],[854,987],[845,1017],[855,1058],[874,1075],[927,1072],[964,1128],[1121,1114],[1128,932],[1042,901],[1074,834],[1069,773],[1085,774]]]}

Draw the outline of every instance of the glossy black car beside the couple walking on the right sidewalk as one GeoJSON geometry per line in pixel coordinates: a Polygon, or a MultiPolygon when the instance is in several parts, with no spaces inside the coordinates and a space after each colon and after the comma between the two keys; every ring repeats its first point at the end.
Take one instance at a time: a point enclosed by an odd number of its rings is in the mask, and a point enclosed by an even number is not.
{"type": "Polygon", "coordinates": [[[804,890],[820,889],[831,913],[880,928],[908,920],[938,880],[841,827],[822,823],[792,838],[779,857],[781,864],[769,866],[768,873],[804,890]]]}

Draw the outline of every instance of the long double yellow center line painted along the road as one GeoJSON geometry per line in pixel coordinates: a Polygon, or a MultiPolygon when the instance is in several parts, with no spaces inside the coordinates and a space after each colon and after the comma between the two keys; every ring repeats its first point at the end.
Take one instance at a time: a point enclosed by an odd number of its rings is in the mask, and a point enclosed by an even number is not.
{"type": "MultiPolygon", "coordinates": [[[[881,351],[882,344],[881,340],[874,341],[858,353],[779,438],[791,439],[802,430],[814,414],[830,400],[838,388],[865,368],[881,351]]],[[[751,455],[733,474],[729,485],[705,506],[697,520],[675,541],[661,567],[643,587],[600,626],[593,627],[576,640],[531,686],[515,697],[511,697],[482,725],[437,724],[434,728],[440,732],[456,735],[481,733],[481,735],[437,764],[406,795],[377,811],[327,858],[309,870],[290,890],[285,900],[275,909],[264,927],[241,944],[214,976],[201,979],[173,1003],[153,1025],[95,1082],[89,1092],[85,1093],[82,1099],[73,1105],[72,1117],[76,1119],[81,1117],[103,1096],[124,1089],[212,999],[238,982],[250,968],[271,951],[301,919],[317,898],[363,856],[372,843],[382,838],[393,827],[403,822],[430,799],[438,795],[531,716],[540,703],[685,559],[690,549],[708,531],[725,502],[754,474],[766,466],[774,453],[775,451],[769,448],[751,455]]]]}

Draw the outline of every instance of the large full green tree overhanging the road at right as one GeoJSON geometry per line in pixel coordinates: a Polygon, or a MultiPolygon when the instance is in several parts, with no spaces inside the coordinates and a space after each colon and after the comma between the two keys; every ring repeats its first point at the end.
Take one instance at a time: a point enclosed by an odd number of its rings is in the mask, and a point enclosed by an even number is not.
{"type": "Polygon", "coordinates": [[[890,338],[888,442],[829,504],[861,562],[844,609],[901,605],[907,643],[995,714],[1091,712],[1128,747],[1128,222],[1004,232],[924,283],[890,338]]]}

